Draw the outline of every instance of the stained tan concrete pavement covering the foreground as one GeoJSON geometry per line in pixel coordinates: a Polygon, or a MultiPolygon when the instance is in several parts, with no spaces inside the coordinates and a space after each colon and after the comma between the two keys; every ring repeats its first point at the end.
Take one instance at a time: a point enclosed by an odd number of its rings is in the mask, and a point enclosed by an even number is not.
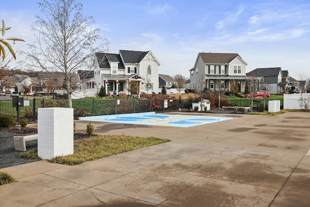
{"type": "MultiPolygon", "coordinates": [[[[172,142],[77,166],[1,169],[16,182],[0,186],[0,206],[310,206],[310,113],[204,115],[238,118],[189,128],[93,122],[98,134],[172,142]]],[[[76,122],[86,132],[89,122],[76,122]]]]}

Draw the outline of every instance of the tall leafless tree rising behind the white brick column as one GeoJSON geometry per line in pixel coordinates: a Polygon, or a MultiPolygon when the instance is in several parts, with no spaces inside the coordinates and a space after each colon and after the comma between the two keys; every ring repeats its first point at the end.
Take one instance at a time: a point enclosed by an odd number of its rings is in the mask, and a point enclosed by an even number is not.
{"type": "Polygon", "coordinates": [[[66,87],[72,108],[77,70],[92,68],[94,53],[107,50],[109,42],[100,36],[99,28],[93,27],[93,16],[83,16],[82,4],[76,0],[41,0],[38,5],[42,16],[36,16],[32,27],[36,41],[26,52],[29,66],[52,76],[61,71],[59,82],[66,87]]]}

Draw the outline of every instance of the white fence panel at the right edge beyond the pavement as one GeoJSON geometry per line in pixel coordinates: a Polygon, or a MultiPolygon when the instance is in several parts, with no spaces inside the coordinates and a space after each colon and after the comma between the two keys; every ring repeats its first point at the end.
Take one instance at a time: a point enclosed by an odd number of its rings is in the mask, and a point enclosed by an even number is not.
{"type": "Polygon", "coordinates": [[[310,94],[284,94],[283,109],[305,109],[310,102],[310,94]],[[303,99],[303,101],[302,101],[303,99]]]}

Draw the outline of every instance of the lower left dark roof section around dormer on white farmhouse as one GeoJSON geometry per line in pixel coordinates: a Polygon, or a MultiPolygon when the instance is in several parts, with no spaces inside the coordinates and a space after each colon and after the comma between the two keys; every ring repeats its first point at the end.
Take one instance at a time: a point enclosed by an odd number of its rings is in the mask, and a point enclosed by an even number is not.
{"type": "Polygon", "coordinates": [[[118,69],[125,69],[121,55],[113,53],[95,53],[99,68],[111,68],[110,62],[118,62],[118,69]]]}

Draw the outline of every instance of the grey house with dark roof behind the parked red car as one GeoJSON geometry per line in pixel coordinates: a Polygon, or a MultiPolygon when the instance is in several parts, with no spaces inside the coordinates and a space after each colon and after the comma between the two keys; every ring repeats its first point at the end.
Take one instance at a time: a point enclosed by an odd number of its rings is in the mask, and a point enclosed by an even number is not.
{"type": "Polygon", "coordinates": [[[269,91],[270,94],[279,94],[282,90],[282,69],[281,67],[256,68],[247,73],[248,77],[262,77],[260,85],[269,91]]]}

